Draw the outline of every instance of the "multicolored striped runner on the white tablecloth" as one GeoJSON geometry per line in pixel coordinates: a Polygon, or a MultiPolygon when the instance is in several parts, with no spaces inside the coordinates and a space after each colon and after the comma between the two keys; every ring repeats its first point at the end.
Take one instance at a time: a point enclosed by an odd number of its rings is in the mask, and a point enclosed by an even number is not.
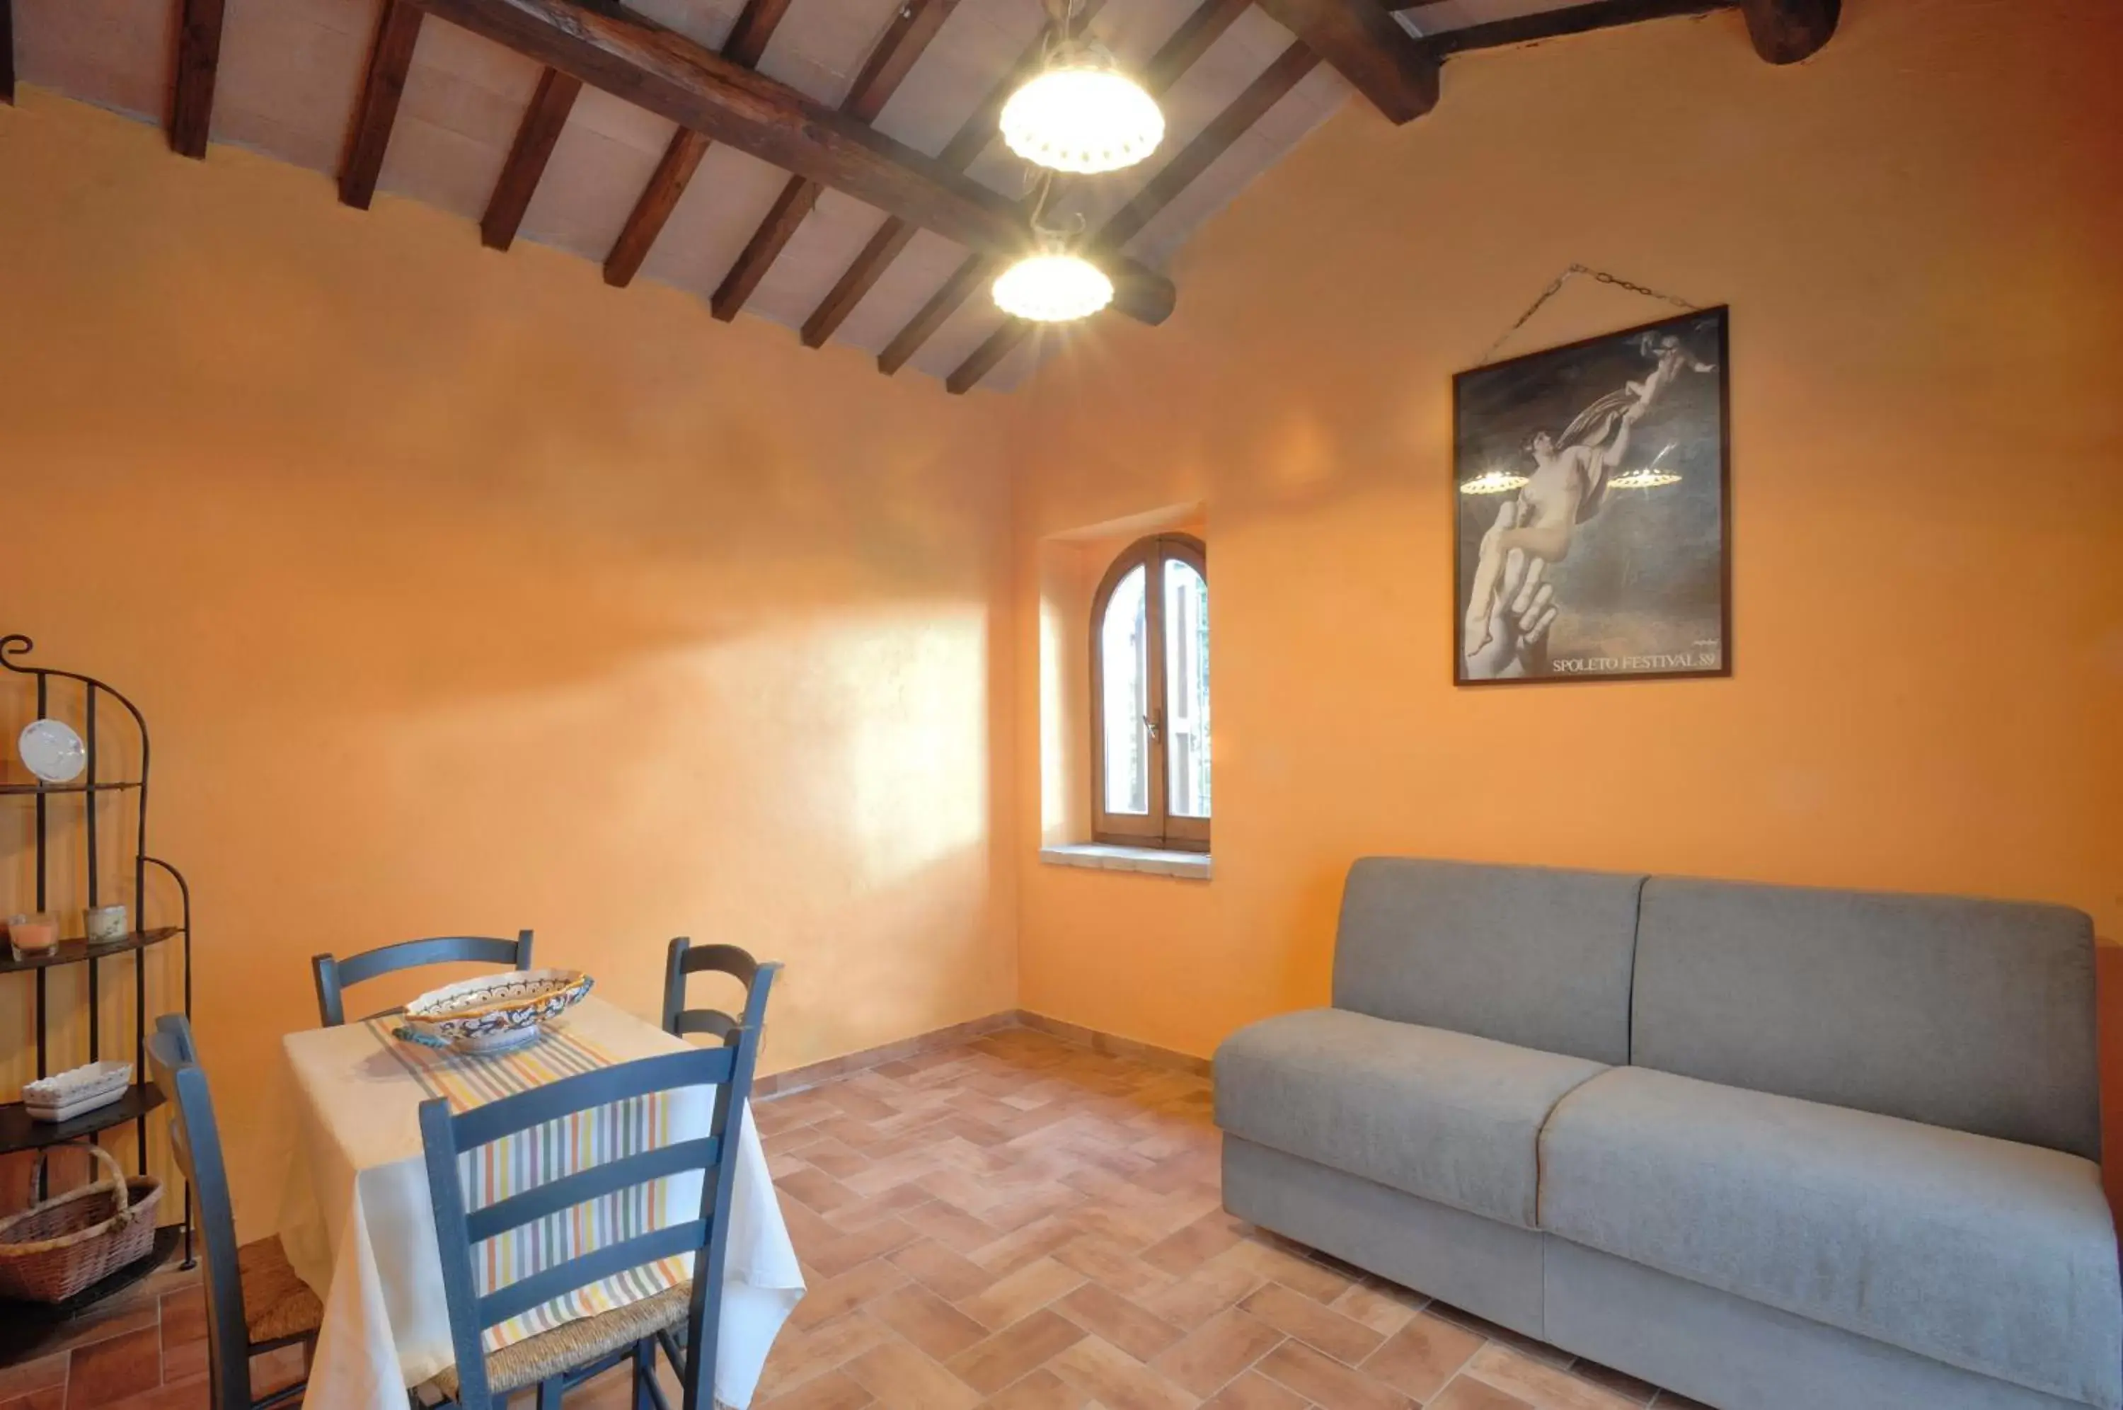
{"type": "MultiPolygon", "coordinates": [[[[459,1113],[618,1062],[601,1047],[565,1032],[552,1032],[512,1053],[452,1053],[393,1038],[391,1030],[399,1021],[395,1015],[369,1019],[367,1028],[384,1051],[397,1058],[420,1083],[422,1094],[448,1098],[450,1111],[459,1113]]],[[[546,1121],[516,1136],[465,1151],[459,1157],[459,1174],[465,1181],[467,1210],[486,1208],[507,1196],[622,1155],[669,1145],[673,1140],[669,1106],[662,1094],[652,1091],[546,1121]]],[[[554,1263],[671,1223],[664,1217],[669,1185],[671,1181],[635,1185],[473,1244],[471,1274],[478,1293],[484,1297],[554,1263]]],[[[688,1257],[633,1268],[488,1327],[486,1351],[495,1353],[580,1317],[594,1317],[652,1297],[690,1276],[688,1257]]]]}

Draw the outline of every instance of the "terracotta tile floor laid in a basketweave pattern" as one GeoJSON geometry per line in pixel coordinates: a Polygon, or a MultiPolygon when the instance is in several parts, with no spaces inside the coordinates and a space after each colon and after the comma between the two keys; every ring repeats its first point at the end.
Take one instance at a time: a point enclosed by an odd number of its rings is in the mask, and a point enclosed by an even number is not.
{"type": "MultiPolygon", "coordinates": [[[[762,1102],[811,1291],[754,1406],[1701,1410],[1229,1219],[1208,1108],[1030,1030],[762,1102]]],[[[202,1410],[202,1336],[159,1274],[0,1368],[0,1410],[202,1410]]],[[[624,1374],[569,1404],[624,1410],[624,1374]]]]}

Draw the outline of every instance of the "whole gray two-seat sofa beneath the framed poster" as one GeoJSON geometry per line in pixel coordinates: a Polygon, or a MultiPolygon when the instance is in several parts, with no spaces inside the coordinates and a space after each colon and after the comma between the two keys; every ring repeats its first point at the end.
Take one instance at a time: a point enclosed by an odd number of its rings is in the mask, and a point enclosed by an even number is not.
{"type": "Polygon", "coordinates": [[[1240,1219],[1720,1410],[2123,1408],[2078,911],[1369,858],[1216,1123],[1240,1219]]]}

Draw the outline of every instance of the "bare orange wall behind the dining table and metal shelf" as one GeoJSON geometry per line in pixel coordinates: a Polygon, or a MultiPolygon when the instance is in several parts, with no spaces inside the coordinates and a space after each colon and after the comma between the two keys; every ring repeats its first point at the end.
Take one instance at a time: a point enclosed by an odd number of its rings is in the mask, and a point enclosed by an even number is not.
{"type": "Polygon", "coordinates": [[[533,926],[652,1015],[735,941],[769,1068],[1015,1004],[1006,403],[38,91],[0,248],[0,631],[155,728],[253,1217],[321,949],[533,926]]]}

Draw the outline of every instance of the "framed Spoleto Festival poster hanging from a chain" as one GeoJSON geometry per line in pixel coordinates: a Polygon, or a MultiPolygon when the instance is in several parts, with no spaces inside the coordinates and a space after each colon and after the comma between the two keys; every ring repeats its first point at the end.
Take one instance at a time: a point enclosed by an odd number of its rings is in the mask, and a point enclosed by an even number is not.
{"type": "Polygon", "coordinates": [[[1463,686],[1732,673],[1726,310],[1452,378],[1463,686]]]}

